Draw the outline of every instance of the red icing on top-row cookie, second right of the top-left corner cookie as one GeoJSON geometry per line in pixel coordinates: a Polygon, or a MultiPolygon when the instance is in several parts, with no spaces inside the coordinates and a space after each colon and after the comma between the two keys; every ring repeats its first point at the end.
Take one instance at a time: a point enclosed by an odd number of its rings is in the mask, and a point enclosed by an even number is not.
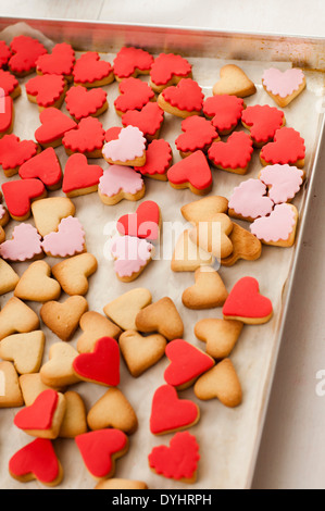
{"type": "Polygon", "coordinates": [[[73,77],[76,84],[99,82],[113,73],[110,62],[100,60],[96,51],[87,51],[75,63],[73,77]]]}

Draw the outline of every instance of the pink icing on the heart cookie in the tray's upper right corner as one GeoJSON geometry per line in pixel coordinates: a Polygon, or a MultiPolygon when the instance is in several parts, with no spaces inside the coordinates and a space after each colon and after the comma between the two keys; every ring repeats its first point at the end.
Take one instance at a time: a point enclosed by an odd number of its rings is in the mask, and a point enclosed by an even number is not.
{"type": "Polygon", "coordinates": [[[270,67],[264,71],[262,76],[262,83],[266,90],[280,98],[286,98],[298,90],[303,79],[302,71],[297,68],[290,68],[283,73],[275,67],[270,67]]]}

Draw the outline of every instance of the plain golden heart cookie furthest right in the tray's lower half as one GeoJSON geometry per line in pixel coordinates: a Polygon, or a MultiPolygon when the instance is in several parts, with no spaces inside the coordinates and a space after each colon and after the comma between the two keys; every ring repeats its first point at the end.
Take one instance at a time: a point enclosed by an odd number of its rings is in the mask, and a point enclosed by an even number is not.
{"type": "Polygon", "coordinates": [[[242,400],[241,385],[230,359],[222,360],[200,376],[193,391],[203,401],[216,398],[229,408],[238,407],[242,400]]]}

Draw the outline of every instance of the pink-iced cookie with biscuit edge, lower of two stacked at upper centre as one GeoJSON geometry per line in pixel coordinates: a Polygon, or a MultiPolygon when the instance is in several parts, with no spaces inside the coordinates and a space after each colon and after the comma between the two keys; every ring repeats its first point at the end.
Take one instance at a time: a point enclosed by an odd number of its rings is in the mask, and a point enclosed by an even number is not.
{"type": "Polygon", "coordinates": [[[110,165],[99,179],[98,194],[104,204],[116,204],[122,199],[139,200],[145,191],[141,175],[129,166],[110,165]]]}

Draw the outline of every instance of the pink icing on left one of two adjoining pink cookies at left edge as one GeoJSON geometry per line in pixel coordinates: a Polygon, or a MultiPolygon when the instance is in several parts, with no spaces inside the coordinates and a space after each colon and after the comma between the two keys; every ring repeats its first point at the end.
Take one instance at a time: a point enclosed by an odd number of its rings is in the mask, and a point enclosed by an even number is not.
{"type": "Polygon", "coordinates": [[[12,239],[0,245],[0,256],[9,261],[27,261],[42,253],[41,237],[30,224],[22,223],[12,233],[12,239]]]}

